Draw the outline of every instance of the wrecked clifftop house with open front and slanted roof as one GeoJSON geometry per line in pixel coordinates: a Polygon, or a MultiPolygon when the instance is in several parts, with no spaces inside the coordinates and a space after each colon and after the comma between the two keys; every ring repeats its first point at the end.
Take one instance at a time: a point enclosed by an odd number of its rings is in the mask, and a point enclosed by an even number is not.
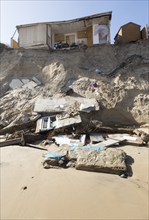
{"type": "MultiPolygon", "coordinates": [[[[18,46],[23,48],[54,48],[58,42],[86,44],[110,43],[112,12],[94,14],[68,21],[18,25],[18,46]]],[[[13,39],[12,39],[13,42],[13,39]]]]}

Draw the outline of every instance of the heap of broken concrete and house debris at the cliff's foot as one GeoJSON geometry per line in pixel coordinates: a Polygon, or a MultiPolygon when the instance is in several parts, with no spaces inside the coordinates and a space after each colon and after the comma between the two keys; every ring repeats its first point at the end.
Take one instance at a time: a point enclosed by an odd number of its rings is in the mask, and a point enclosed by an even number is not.
{"type": "MultiPolygon", "coordinates": [[[[17,84],[19,81],[14,82],[17,84]]],[[[13,84],[14,89],[15,83],[13,84]]],[[[36,84],[33,81],[27,80],[24,83],[24,86],[30,89],[36,84]]],[[[127,155],[118,147],[126,142],[130,143],[130,141],[136,143],[138,138],[140,138],[139,143],[142,140],[142,144],[147,144],[148,135],[138,130],[134,130],[133,135],[108,134],[95,132],[91,130],[91,127],[88,128],[86,133],[77,134],[76,125],[83,124],[84,114],[89,114],[98,109],[99,105],[95,99],[40,97],[36,100],[34,111],[31,115],[22,114],[16,119],[18,126],[20,126],[19,128],[24,126],[23,128],[25,129],[12,132],[5,140],[0,141],[0,147],[18,144],[20,146],[46,150],[48,153],[43,160],[43,167],[45,169],[74,167],[77,170],[128,176],[127,155]],[[32,126],[26,130],[29,123],[32,123],[32,126]],[[29,133],[31,129],[34,130],[34,133],[29,133]],[[64,135],[63,133],[68,134],[64,135]],[[137,136],[134,134],[137,134],[137,136]],[[36,141],[41,140],[45,141],[35,144],[36,141]],[[54,144],[55,147],[51,148],[51,144],[54,144]]],[[[16,130],[15,121],[13,123],[14,125],[11,124],[11,126],[9,125],[5,129],[7,131],[11,131],[11,129],[16,130]]],[[[105,129],[102,127],[102,124],[100,126],[97,126],[97,123],[94,124],[95,128],[105,129]]]]}

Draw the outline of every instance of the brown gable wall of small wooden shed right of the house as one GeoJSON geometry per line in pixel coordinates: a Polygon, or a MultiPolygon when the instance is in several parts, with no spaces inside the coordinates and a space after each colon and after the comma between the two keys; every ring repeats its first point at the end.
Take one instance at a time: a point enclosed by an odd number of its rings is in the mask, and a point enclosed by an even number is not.
{"type": "MultiPolygon", "coordinates": [[[[119,43],[129,43],[141,39],[140,26],[128,24],[122,27],[122,33],[118,33],[119,43]]],[[[117,36],[117,39],[118,39],[117,36]]]]}

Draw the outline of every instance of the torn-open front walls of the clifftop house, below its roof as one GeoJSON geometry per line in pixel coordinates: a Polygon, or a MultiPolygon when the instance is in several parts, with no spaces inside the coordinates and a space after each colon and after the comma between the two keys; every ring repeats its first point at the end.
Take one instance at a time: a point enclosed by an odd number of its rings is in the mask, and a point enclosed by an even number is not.
{"type": "Polygon", "coordinates": [[[76,44],[108,43],[110,41],[110,21],[109,16],[94,19],[78,20],[75,22],[41,23],[18,26],[19,47],[45,46],[54,47],[56,42],[75,42],[76,44]],[[94,36],[93,29],[98,24],[108,27],[106,39],[99,40],[99,36],[94,36]],[[70,36],[70,38],[69,38],[70,36]]]}

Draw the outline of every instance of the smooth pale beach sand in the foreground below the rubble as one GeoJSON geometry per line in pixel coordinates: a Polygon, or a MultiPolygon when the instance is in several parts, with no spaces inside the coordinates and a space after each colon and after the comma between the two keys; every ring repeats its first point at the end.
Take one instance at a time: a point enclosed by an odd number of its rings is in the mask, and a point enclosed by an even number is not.
{"type": "Polygon", "coordinates": [[[1,148],[1,220],[149,219],[149,148],[121,148],[134,160],[127,179],[73,168],[44,169],[45,151],[1,148]]]}

